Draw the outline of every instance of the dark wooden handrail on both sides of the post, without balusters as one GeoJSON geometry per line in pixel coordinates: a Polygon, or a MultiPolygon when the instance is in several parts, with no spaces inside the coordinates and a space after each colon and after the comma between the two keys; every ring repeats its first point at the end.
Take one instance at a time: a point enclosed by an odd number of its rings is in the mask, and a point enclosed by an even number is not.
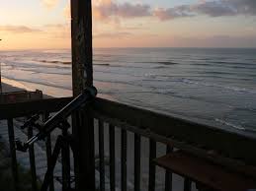
{"type": "MultiPolygon", "coordinates": [[[[55,112],[66,105],[72,97],[51,98],[29,102],[0,105],[0,120],[26,116],[39,111],[55,112]]],[[[103,98],[96,98],[92,111],[95,118],[155,141],[201,155],[203,151],[214,151],[205,155],[218,162],[215,154],[220,154],[220,162],[235,166],[256,166],[254,146],[256,139],[236,132],[202,125],[170,115],[129,106],[103,98]],[[241,161],[241,162],[240,162],[241,161]]],[[[217,155],[218,156],[218,155],[217,155]]],[[[243,167],[241,167],[243,168],[243,167]]]]}

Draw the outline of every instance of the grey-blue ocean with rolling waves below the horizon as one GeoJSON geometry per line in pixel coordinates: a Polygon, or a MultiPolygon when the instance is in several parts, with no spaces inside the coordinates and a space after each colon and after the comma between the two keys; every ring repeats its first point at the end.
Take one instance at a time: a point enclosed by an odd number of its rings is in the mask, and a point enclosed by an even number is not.
{"type": "MultiPolygon", "coordinates": [[[[0,51],[2,81],[71,96],[70,50],[0,51]]],[[[244,134],[256,133],[256,49],[96,48],[100,95],[244,134]]]]}

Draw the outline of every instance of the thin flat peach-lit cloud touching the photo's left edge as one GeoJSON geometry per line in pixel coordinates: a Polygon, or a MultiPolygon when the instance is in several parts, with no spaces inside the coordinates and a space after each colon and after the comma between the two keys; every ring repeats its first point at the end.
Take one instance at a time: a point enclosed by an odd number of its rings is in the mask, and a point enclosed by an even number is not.
{"type": "Polygon", "coordinates": [[[28,32],[42,32],[38,29],[33,29],[26,26],[0,26],[0,32],[13,32],[13,33],[28,33],[28,32]]]}

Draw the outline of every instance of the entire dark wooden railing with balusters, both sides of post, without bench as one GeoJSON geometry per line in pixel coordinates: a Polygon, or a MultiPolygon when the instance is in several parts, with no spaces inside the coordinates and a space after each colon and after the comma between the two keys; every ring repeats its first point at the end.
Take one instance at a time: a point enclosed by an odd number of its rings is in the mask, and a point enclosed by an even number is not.
{"type": "MultiPolygon", "coordinates": [[[[19,177],[13,119],[39,112],[43,113],[43,117],[46,118],[51,112],[59,110],[70,100],[71,97],[67,97],[1,105],[0,120],[8,120],[13,175],[17,185],[19,185],[19,177]]],[[[83,126],[85,124],[84,111],[76,112],[78,112],[76,114],[79,115],[78,121],[80,121],[78,125],[83,126]]],[[[109,189],[112,191],[131,189],[154,191],[156,188],[172,190],[172,173],[168,170],[165,171],[165,182],[162,182],[162,186],[159,187],[159,182],[156,183],[157,168],[153,159],[160,157],[160,153],[163,155],[177,150],[212,160],[230,170],[256,178],[256,155],[254,152],[256,139],[252,136],[220,130],[102,98],[96,98],[86,113],[90,113],[94,119],[94,128],[91,129],[90,135],[86,136],[93,137],[90,138],[93,144],[88,149],[95,153],[94,161],[99,159],[98,164],[87,167],[98,169],[96,172],[91,171],[90,175],[96,177],[99,189],[102,191],[109,189]],[[160,150],[164,149],[165,152],[160,151],[159,146],[160,150]],[[147,154],[146,151],[148,151],[148,155],[144,155],[147,154]],[[132,159],[129,155],[132,155],[132,159]],[[107,159],[109,159],[108,162],[107,159]],[[146,163],[145,160],[147,160],[146,163]],[[109,165],[109,173],[106,171],[106,163],[109,165]],[[131,170],[130,167],[133,169],[131,170]],[[143,172],[142,177],[141,168],[146,168],[147,175],[143,172]],[[120,170],[119,173],[117,173],[118,170],[120,170]],[[99,176],[97,176],[98,172],[99,176]]],[[[32,134],[31,129],[28,136],[31,137],[32,134]]],[[[49,136],[45,140],[47,159],[51,156],[50,142],[49,136]]],[[[33,148],[29,152],[32,185],[33,189],[37,190],[33,148]]],[[[65,166],[63,167],[65,168],[65,166]]],[[[70,175],[70,169],[66,173],[70,175]]],[[[97,182],[86,182],[85,184],[93,184],[95,187],[95,183],[97,182]]],[[[192,181],[189,178],[185,177],[184,182],[179,183],[182,184],[181,187],[184,190],[191,190],[192,181]]],[[[52,179],[50,190],[53,189],[52,179]]]]}

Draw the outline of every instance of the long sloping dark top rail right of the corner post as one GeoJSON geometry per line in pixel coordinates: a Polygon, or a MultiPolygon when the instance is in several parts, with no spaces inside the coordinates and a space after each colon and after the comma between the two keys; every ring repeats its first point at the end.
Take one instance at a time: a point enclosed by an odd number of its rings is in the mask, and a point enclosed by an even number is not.
{"type": "Polygon", "coordinates": [[[140,131],[146,131],[148,137],[157,135],[165,139],[182,140],[189,145],[214,150],[224,157],[256,165],[256,137],[253,135],[229,132],[102,98],[95,101],[94,112],[112,119],[112,123],[122,122],[140,131]]]}

